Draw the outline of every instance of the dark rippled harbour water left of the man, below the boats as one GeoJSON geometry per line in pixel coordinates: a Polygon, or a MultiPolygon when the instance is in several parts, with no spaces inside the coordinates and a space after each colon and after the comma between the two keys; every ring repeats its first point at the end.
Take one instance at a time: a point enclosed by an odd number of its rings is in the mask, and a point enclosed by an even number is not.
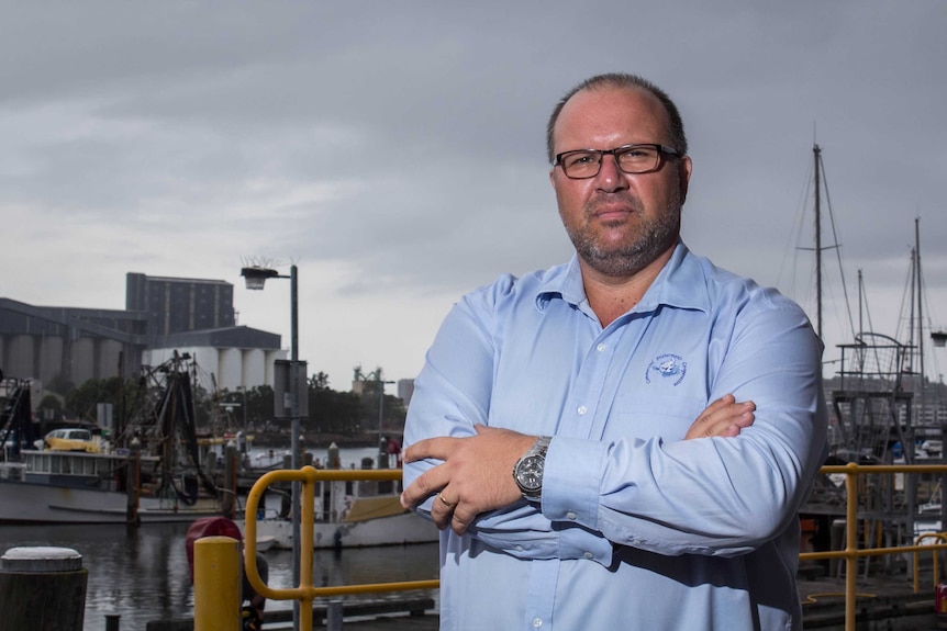
{"type": "MultiPolygon", "coordinates": [[[[344,465],[360,462],[361,450],[343,450],[344,465]]],[[[321,455],[321,454],[317,454],[321,455]]],[[[189,617],[193,588],[185,550],[188,523],[124,526],[0,526],[0,554],[11,548],[71,548],[89,571],[83,631],[104,631],[105,616],[119,615],[122,631],[144,629],[149,620],[189,617]]],[[[269,585],[290,587],[290,551],[271,550],[269,585]]],[[[316,586],[421,581],[437,577],[437,544],[315,551],[316,586]]],[[[427,594],[436,598],[436,594],[427,594]]],[[[371,596],[380,598],[383,596],[371,596]]],[[[395,596],[392,596],[395,597],[395,596]]],[[[267,609],[288,609],[272,601],[267,609]]]]}

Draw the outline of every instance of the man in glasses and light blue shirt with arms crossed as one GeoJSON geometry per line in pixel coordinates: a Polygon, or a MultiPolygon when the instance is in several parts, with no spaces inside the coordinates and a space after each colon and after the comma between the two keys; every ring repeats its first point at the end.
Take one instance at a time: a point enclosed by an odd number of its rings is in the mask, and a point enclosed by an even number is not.
{"type": "Polygon", "coordinates": [[[442,629],[800,630],[822,343],[680,241],[664,91],[593,77],[547,144],[576,256],[455,305],[409,409],[402,503],[444,530],[442,629]]]}

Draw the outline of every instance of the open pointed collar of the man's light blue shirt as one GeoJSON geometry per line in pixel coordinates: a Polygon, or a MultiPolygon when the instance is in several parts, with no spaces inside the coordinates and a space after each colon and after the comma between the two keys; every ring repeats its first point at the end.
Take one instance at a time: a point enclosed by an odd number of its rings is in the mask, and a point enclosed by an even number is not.
{"type": "MultiPolygon", "coordinates": [[[[536,290],[536,308],[546,311],[555,298],[564,300],[575,307],[588,302],[577,255],[546,275],[536,290]]],[[[681,240],[678,240],[671,258],[633,311],[654,311],[660,305],[710,311],[702,259],[692,255],[681,240]]]]}

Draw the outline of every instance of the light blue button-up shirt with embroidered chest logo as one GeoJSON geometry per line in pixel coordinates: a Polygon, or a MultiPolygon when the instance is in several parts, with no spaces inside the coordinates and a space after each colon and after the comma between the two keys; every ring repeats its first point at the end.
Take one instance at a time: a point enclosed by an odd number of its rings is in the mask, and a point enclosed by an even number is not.
{"type": "MultiPolygon", "coordinates": [[[[415,381],[405,444],[475,424],[553,441],[542,505],[442,533],[442,630],[801,629],[821,357],[799,306],[683,244],[604,329],[575,258],[465,296],[415,381]],[[756,403],[754,425],[683,441],[727,393],[756,403]]],[[[406,464],[405,484],[434,464],[406,464]]]]}

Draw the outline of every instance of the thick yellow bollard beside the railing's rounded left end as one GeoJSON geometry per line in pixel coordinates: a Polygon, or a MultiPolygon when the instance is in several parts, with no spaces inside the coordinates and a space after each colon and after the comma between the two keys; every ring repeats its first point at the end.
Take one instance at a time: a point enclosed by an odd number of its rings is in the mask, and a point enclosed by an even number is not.
{"type": "Polygon", "coordinates": [[[239,542],[232,537],[194,541],[194,631],[239,629],[239,542]]]}

